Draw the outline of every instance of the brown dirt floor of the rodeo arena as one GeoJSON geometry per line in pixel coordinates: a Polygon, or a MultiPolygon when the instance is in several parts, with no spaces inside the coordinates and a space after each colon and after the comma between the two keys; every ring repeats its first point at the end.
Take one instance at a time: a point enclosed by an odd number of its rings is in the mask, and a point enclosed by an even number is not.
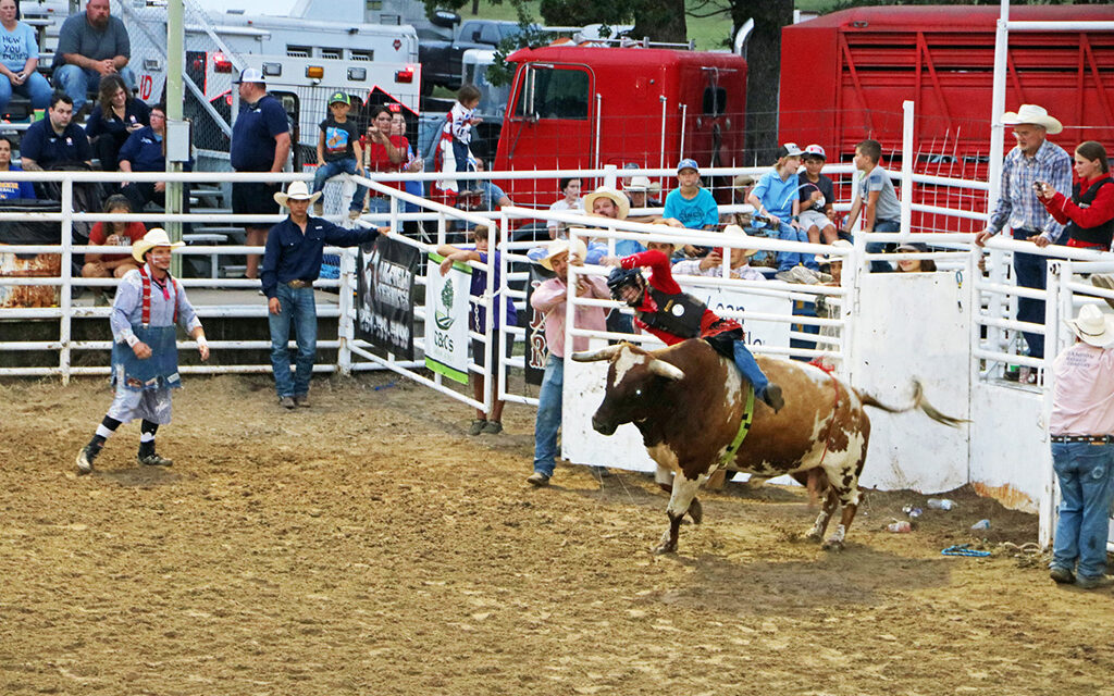
{"type": "Polygon", "coordinates": [[[172,469],[131,424],[78,478],[105,383],[0,390],[0,694],[1114,693],[1114,592],[1054,586],[1017,548],[1036,518],[962,490],[903,535],[925,498],[871,493],[830,553],[800,489],[729,484],[654,556],[648,478],[525,483],[525,408],[469,438],[385,375],[296,412],[187,378],[172,469]],[[966,542],[993,556],[940,555],[966,542]]]}

